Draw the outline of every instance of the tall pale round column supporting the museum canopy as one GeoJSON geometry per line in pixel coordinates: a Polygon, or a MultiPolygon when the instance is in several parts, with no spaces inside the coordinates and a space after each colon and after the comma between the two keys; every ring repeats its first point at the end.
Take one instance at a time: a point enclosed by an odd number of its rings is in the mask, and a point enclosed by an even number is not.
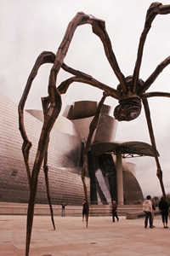
{"type": "Polygon", "coordinates": [[[122,151],[116,148],[117,204],[123,205],[122,151]]]}

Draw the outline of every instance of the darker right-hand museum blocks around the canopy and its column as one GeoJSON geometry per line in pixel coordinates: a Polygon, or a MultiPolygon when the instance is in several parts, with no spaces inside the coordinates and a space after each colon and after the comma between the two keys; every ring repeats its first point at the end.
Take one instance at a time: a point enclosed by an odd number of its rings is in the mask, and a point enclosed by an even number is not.
{"type": "MultiPolygon", "coordinates": [[[[72,120],[80,131],[81,137],[88,138],[88,127],[97,108],[95,102],[76,102],[70,108],[66,108],[65,117],[72,120]],[[88,108],[90,111],[88,112],[88,108]],[[81,113],[82,119],[81,119],[81,113]]],[[[117,121],[110,116],[111,107],[104,105],[101,109],[99,122],[92,139],[92,147],[88,153],[88,175],[90,177],[91,204],[109,204],[111,200],[117,201],[116,165],[111,154],[104,154],[110,143],[115,142],[117,121]],[[99,150],[94,148],[99,145],[99,150]],[[95,150],[94,150],[95,149],[95,150]],[[100,151],[100,154],[96,154],[100,151]]],[[[123,197],[124,203],[133,204],[143,200],[144,196],[135,177],[133,163],[122,164],[123,197]],[[129,168],[129,166],[132,168],[129,168]]]]}

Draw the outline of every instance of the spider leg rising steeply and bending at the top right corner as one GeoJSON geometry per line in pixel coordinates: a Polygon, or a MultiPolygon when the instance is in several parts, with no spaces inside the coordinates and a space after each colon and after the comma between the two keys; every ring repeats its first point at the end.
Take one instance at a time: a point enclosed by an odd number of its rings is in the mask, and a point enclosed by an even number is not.
{"type": "Polygon", "coordinates": [[[144,50],[144,43],[148,32],[150,31],[151,23],[155,19],[156,15],[168,15],[170,13],[170,4],[162,5],[162,3],[151,3],[149,9],[146,13],[146,18],[144,22],[144,30],[141,33],[139,39],[139,49],[137,54],[137,60],[135,63],[134,71],[133,71],[133,80],[131,85],[131,91],[133,93],[136,92],[138,80],[139,80],[139,69],[142,62],[142,55],[144,50]]]}

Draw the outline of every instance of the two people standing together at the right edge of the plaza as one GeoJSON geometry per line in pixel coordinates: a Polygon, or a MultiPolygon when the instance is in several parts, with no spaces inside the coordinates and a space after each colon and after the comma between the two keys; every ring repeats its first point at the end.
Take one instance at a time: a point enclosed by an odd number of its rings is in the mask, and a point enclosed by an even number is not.
{"type": "MultiPolygon", "coordinates": [[[[168,207],[167,201],[163,196],[161,196],[161,200],[159,201],[158,207],[161,212],[163,227],[164,229],[168,229],[167,223],[168,223],[169,207],[168,207]]],[[[147,195],[146,199],[144,200],[143,211],[145,212],[144,228],[145,229],[147,228],[148,223],[150,225],[150,229],[155,228],[153,221],[154,221],[154,213],[156,211],[156,207],[153,201],[151,201],[150,195],[147,195]]]]}

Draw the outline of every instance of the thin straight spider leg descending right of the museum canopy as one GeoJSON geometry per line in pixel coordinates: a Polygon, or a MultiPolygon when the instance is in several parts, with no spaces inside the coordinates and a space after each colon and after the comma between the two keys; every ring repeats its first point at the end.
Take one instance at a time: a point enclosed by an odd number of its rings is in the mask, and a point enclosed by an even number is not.
{"type": "Polygon", "coordinates": [[[157,150],[156,150],[156,140],[155,140],[155,137],[154,137],[154,131],[153,131],[151,118],[150,118],[150,108],[149,108],[148,100],[143,99],[142,102],[144,104],[144,113],[145,113],[145,116],[146,116],[148,130],[149,130],[149,133],[150,133],[150,141],[151,141],[151,144],[152,144],[154,157],[155,157],[155,160],[156,160],[156,166],[157,166],[156,175],[157,175],[157,177],[160,181],[160,184],[161,184],[162,195],[164,196],[164,198],[166,198],[166,193],[165,193],[165,189],[164,189],[164,185],[163,185],[163,181],[162,181],[161,165],[160,165],[160,162],[158,160],[158,154],[157,154],[157,150]]]}

